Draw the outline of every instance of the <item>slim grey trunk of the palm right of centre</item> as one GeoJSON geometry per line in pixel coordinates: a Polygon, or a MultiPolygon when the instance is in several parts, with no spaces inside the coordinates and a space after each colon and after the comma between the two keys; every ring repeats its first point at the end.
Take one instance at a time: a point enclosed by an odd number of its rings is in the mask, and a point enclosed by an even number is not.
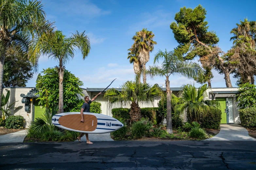
{"type": "Polygon", "coordinates": [[[172,132],[172,108],[171,108],[172,91],[170,91],[170,81],[168,77],[166,77],[165,85],[166,85],[166,95],[167,95],[166,130],[168,134],[172,134],[173,133],[172,132]]]}

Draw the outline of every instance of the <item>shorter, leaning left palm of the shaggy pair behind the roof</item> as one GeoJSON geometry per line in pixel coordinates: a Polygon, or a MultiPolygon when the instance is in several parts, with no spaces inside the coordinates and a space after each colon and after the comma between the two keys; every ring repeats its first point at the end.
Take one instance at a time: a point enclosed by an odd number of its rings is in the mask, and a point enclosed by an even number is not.
{"type": "Polygon", "coordinates": [[[128,57],[127,59],[129,59],[130,64],[133,63],[133,70],[134,73],[136,74],[136,79],[141,82],[141,71],[142,71],[142,64],[140,62],[139,58],[139,53],[137,51],[135,51],[134,48],[130,48],[128,49],[128,57]]]}

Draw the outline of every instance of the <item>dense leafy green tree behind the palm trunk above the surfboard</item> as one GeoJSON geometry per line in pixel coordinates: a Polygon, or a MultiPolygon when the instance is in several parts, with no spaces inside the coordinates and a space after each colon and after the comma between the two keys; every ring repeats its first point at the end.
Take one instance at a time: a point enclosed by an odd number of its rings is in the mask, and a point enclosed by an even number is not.
{"type": "MultiPolygon", "coordinates": [[[[36,88],[39,90],[40,100],[39,103],[44,106],[48,106],[50,110],[54,106],[59,105],[59,78],[58,70],[56,68],[43,69],[41,72],[44,75],[38,76],[36,88]]],[[[68,70],[64,71],[64,82],[63,82],[63,106],[64,112],[69,111],[77,104],[77,94],[82,94],[83,83],[79,78],[75,77],[74,74],[70,73],[68,70]]]]}

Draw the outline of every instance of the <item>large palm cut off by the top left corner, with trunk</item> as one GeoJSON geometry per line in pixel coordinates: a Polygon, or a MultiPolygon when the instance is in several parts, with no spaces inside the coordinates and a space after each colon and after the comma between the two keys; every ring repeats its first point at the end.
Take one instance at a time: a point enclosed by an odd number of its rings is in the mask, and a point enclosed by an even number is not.
{"type": "MultiPolygon", "coordinates": [[[[0,94],[6,51],[10,45],[27,53],[30,38],[52,31],[43,4],[36,0],[0,0],[0,94]]],[[[1,103],[1,99],[0,99],[1,103]]]]}

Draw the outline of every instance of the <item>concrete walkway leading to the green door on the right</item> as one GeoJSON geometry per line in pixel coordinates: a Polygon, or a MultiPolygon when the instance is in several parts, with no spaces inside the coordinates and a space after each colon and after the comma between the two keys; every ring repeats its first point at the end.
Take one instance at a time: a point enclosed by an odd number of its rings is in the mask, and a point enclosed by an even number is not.
{"type": "Polygon", "coordinates": [[[206,140],[219,141],[256,141],[255,138],[249,136],[246,128],[239,124],[221,124],[220,132],[212,138],[206,140]]]}

